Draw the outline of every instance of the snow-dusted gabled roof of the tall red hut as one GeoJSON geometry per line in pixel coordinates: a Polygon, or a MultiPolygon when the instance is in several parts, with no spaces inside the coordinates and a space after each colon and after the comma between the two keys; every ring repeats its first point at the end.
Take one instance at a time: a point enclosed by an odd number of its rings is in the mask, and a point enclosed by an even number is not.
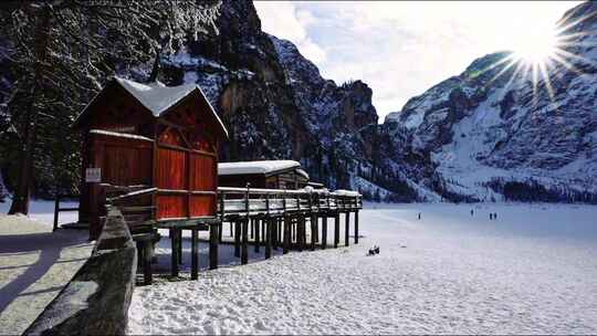
{"type": "MultiPolygon", "coordinates": [[[[224,124],[218,116],[218,113],[216,113],[216,109],[213,109],[213,106],[211,106],[211,103],[206,97],[206,94],[203,93],[201,87],[199,87],[197,84],[185,84],[185,85],[179,85],[179,86],[166,86],[164,85],[164,83],[160,83],[160,82],[155,82],[150,84],[142,84],[142,83],[137,83],[130,80],[121,78],[117,76],[114,76],[111,83],[116,83],[121,87],[123,87],[133,97],[135,97],[135,99],[137,99],[143,106],[145,106],[149,112],[151,112],[154,117],[160,117],[164,113],[168,112],[170,107],[176,105],[178,102],[189,96],[191,93],[198,92],[207,102],[211,111],[211,114],[220,124],[226,136],[228,136],[228,130],[226,129],[224,124]]],[[[108,85],[106,85],[105,87],[107,87],[108,85]]],[[[74,125],[80,123],[80,119],[86,114],[86,111],[90,108],[90,106],[95,103],[96,98],[100,96],[101,93],[102,92],[100,92],[90,102],[90,104],[83,109],[83,112],[76,118],[74,125]]]]}

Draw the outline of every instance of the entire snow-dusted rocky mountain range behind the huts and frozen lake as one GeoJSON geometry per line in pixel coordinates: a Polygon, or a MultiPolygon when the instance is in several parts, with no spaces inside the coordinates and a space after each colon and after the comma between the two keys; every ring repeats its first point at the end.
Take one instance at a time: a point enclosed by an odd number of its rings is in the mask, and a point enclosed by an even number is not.
{"type": "MultiPolygon", "coordinates": [[[[577,23],[565,32],[573,35],[567,55],[577,56],[549,69],[553,97],[541,75],[534,86],[516,64],[506,69],[501,61],[511,54],[501,52],[383,124],[366,83],[323,78],[293,43],[261,30],[252,2],[222,0],[218,9],[219,34],[174,45],[176,53],[160,59],[159,80],[203,88],[229,128],[222,161],[300,160],[312,180],[374,200],[597,202],[597,3],[563,19],[577,23]]],[[[153,67],[116,65],[118,75],[142,82],[153,67]]],[[[52,188],[38,182],[38,195],[52,188]]]]}

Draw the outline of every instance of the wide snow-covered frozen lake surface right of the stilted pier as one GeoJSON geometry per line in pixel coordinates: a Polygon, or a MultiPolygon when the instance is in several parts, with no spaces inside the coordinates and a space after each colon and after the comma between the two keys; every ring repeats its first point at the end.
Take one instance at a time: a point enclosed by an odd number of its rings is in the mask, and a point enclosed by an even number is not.
{"type": "Polygon", "coordinates": [[[129,332],[597,333],[597,208],[474,207],[367,209],[359,245],[138,287],[129,332]]]}

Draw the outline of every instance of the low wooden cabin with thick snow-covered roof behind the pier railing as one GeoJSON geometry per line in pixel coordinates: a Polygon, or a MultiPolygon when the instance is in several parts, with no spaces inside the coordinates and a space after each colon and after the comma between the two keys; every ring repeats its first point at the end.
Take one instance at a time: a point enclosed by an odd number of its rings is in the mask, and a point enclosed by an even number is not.
{"type": "Polygon", "coordinates": [[[301,189],[308,185],[308,174],[293,160],[263,160],[218,164],[218,183],[222,187],[301,189]]]}

